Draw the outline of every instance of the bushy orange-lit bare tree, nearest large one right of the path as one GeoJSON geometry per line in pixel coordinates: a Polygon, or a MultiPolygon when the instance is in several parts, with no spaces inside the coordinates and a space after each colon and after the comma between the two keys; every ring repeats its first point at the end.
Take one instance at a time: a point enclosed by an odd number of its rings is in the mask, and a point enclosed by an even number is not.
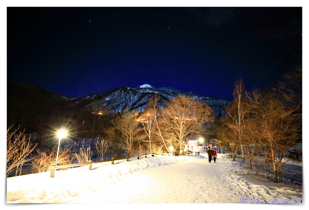
{"type": "Polygon", "coordinates": [[[259,137],[260,145],[265,145],[265,153],[273,166],[274,182],[278,183],[277,174],[278,171],[281,174],[282,158],[299,138],[297,131],[300,124],[297,123],[298,115],[295,112],[297,107],[286,107],[273,93],[264,97],[252,94],[250,101],[256,107],[256,136],[259,137]]]}

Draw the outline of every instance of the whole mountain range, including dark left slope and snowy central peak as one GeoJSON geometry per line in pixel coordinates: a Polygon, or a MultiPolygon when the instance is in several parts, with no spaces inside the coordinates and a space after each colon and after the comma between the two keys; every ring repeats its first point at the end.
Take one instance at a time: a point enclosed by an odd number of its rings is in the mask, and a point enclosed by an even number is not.
{"type": "Polygon", "coordinates": [[[193,96],[207,103],[213,109],[214,115],[219,117],[225,114],[225,107],[231,104],[231,99],[182,92],[172,87],[155,88],[149,84],[139,87],[119,87],[77,98],[49,92],[30,83],[7,80],[7,123],[19,124],[20,119],[27,119],[24,124],[28,125],[26,128],[30,130],[35,125],[38,126],[42,119],[48,121],[60,113],[77,116],[83,110],[104,109],[110,113],[125,110],[142,112],[155,94],[159,96],[158,106],[176,99],[180,94],[193,96]]]}

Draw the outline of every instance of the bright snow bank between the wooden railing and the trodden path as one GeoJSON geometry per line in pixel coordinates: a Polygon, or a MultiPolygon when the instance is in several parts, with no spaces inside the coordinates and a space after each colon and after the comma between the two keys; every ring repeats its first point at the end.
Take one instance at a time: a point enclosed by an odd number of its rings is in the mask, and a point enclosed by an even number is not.
{"type": "Polygon", "coordinates": [[[100,167],[93,164],[93,170],[84,166],[56,171],[54,178],[49,177],[50,172],[11,177],[6,180],[6,199],[7,203],[71,202],[76,196],[116,184],[139,170],[199,158],[203,156],[155,156],[100,167]]]}

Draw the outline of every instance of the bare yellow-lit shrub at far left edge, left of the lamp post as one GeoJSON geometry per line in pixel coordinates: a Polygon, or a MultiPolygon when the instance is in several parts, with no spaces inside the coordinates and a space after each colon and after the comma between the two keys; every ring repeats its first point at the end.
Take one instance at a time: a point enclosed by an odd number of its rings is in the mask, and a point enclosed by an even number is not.
{"type": "Polygon", "coordinates": [[[9,176],[13,170],[16,170],[15,176],[17,176],[18,171],[20,176],[23,164],[30,160],[27,157],[36,147],[36,144],[34,147],[31,146],[30,136],[26,138],[25,130],[15,134],[17,128],[10,133],[12,127],[13,125],[6,131],[6,176],[9,176]]]}

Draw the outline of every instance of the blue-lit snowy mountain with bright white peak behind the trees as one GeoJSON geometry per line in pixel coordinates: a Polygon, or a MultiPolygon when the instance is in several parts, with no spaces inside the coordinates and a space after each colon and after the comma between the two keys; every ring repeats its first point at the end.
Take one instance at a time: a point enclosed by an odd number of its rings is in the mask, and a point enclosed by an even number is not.
{"type": "Polygon", "coordinates": [[[225,113],[225,107],[231,104],[230,99],[220,99],[182,92],[171,87],[155,88],[149,84],[144,84],[139,87],[120,87],[103,93],[87,95],[72,101],[75,104],[83,103],[86,106],[91,106],[96,111],[100,111],[100,108],[106,107],[112,113],[132,109],[136,112],[142,112],[145,110],[146,104],[155,94],[159,95],[159,105],[163,105],[163,101],[175,100],[176,96],[180,94],[193,96],[195,99],[207,103],[217,116],[222,116],[225,113]]]}

